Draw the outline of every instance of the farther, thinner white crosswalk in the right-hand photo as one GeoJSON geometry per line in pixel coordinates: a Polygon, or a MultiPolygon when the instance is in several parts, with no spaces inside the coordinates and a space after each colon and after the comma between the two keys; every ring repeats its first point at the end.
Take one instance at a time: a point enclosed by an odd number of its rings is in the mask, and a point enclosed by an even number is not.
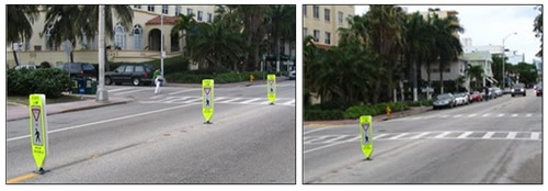
{"type": "Polygon", "coordinates": [[[398,121],[419,121],[436,119],[523,119],[523,117],[543,117],[541,113],[457,113],[457,114],[432,114],[423,116],[408,116],[390,120],[398,121]]]}

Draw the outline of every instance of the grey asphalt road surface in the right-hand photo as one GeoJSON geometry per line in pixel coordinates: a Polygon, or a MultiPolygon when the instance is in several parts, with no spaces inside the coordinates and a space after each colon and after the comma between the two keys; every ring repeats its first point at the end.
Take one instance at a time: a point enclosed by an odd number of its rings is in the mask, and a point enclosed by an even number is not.
{"type": "Polygon", "coordinates": [[[541,98],[503,96],[373,124],[304,128],[304,183],[543,183],[541,98]]]}

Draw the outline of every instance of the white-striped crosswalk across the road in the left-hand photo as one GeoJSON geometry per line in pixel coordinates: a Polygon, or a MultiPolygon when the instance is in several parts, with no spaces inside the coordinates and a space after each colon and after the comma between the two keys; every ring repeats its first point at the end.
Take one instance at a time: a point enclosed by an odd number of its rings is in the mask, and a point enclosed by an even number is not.
{"type": "MultiPolygon", "coordinates": [[[[162,97],[139,102],[162,104],[199,103],[202,97],[162,97]]],[[[215,97],[215,104],[270,104],[270,101],[267,98],[215,97]]],[[[277,98],[274,104],[295,106],[295,99],[277,98]]]]}

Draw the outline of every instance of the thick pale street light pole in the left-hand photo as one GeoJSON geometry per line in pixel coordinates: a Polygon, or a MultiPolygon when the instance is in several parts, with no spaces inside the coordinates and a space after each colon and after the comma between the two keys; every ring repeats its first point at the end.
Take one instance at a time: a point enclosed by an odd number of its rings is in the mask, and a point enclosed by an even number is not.
{"type": "Polygon", "coordinates": [[[104,64],[105,64],[105,43],[104,43],[104,5],[99,5],[99,88],[96,101],[109,101],[109,92],[104,87],[104,64]]]}

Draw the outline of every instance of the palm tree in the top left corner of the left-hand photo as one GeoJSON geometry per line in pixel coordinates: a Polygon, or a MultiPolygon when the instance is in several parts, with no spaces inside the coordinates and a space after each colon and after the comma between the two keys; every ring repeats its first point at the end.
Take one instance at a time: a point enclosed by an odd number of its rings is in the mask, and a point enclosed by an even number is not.
{"type": "Polygon", "coordinates": [[[33,34],[34,21],[38,19],[38,5],[34,4],[10,4],[8,8],[8,34],[7,43],[12,44],[13,58],[19,66],[19,58],[13,43],[30,41],[33,34]]]}

